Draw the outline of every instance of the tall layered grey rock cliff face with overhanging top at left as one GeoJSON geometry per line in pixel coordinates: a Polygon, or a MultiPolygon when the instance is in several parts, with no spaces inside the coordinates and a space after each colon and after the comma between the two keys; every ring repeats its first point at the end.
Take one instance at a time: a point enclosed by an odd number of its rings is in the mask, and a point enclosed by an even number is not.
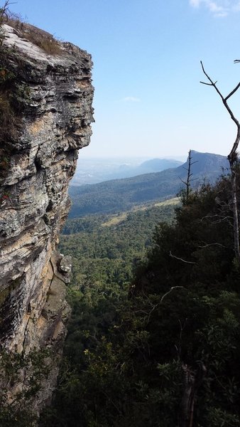
{"type": "MultiPolygon", "coordinates": [[[[55,43],[57,53],[46,53],[34,35],[52,41],[35,27],[23,31],[10,23],[2,31],[0,343],[8,351],[48,347],[60,354],[70,260],[56,245],[70,208],[77,150],[91,135],[92,60],[70,43],[55,43]]],[[[57,371],[56,364],[52,383],[57,371]]],[[[45,390],[38,406],[50,394],[45,390]]]]}

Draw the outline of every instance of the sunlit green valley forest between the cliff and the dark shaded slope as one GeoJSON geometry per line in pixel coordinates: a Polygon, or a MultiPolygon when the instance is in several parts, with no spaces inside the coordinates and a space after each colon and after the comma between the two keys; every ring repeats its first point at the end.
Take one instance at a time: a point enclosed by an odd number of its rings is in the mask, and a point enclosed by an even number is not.
{"type": "Polygon", "coordinates": [[[111,325],[116,307],[128,295],[133,269],[151,246],[156,223],[173,218],[175,203],[179,199],[119,216],[67,221],[60,241],[60,251],[72,255],[69,298],[73,312],[65,345],[67,357],[77,361],[82,357],[84,335],[87,333],[89,342],[97,331],[111,325]]]}

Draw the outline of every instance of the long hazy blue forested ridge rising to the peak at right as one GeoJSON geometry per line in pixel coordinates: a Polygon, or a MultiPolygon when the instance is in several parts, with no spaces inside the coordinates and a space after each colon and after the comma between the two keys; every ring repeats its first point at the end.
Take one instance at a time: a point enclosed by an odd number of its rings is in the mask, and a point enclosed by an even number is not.
{"type": "MultiPolygon", "coordinates": [[[[218,154],[199,153],[192,150],[192,185],[204,179],[216,181],[229,164],[227,158],[218,154]]],[[[179,167],[162,172],[143,174],[126,179],[104,181],[99,184],[70,187],[72,209],[70,218],[87,214],[109,214],[127,211],[133,206],[168,199],[183,188],[181,179],[186,179],[187,162],[179,167]]]]}

